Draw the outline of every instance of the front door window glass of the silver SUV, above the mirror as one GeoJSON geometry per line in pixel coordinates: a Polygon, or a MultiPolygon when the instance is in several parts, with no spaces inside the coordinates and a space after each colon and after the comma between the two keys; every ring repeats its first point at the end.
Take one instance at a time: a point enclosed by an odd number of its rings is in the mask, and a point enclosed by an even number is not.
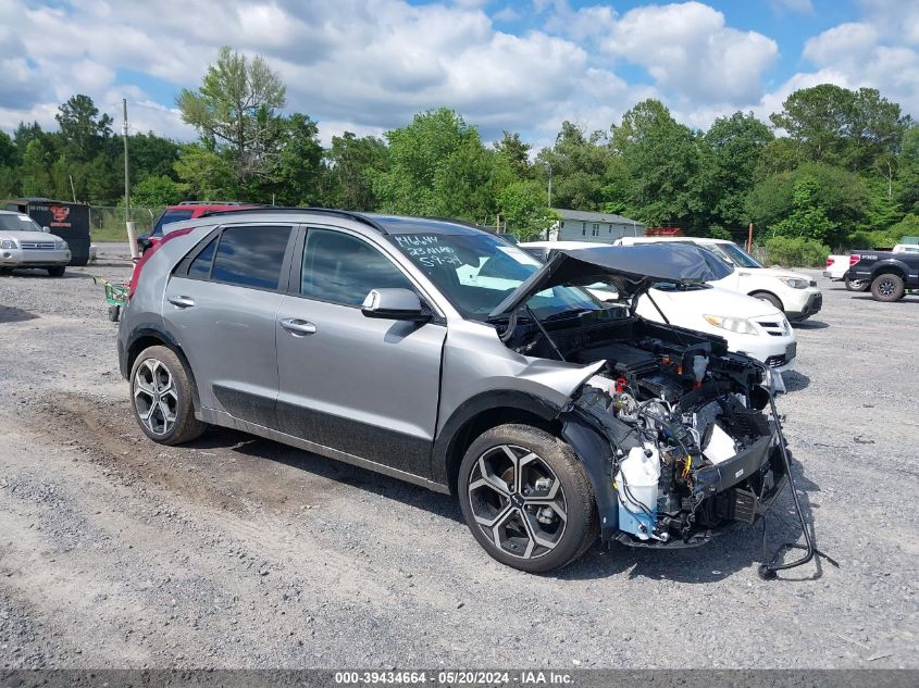
{"type": "Polygon", "coordinates": [[[411,282],[378,250],[343,232],[310,229],[303,247],[300,293],[361,305],[372,289],[411,289],[411,282]]]}

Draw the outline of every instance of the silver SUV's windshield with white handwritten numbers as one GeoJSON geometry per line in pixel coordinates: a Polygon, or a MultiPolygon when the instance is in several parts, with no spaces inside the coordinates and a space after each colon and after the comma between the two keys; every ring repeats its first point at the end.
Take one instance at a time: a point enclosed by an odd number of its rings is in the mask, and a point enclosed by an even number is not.
{"type": "MultiPolygon", "coordinates": [[[[484,321],[542,263],[487,234],[400,234],[393,242],[465,317],[484,321]]],[[[551,287],[527,305],[541,320],[558,313],[600,311],[604,305],[583,289],[551,287]]]]}

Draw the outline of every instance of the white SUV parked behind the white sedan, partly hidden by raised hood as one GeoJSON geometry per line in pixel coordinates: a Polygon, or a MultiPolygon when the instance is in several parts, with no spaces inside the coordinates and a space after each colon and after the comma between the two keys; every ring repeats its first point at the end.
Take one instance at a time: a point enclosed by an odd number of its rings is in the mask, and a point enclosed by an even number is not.
{"type": "Polygon", "coordinates": [[[733,241],[699,237],[623,237],[616,241],[616,246],[658,241],[696,243],[715,251],[735,270],[723,279],[711,282],[711,285],[769,301],[792,322],[807,320],[823,305],[823,295],[816,279],[781,267],[765,267],[733,241]]]}

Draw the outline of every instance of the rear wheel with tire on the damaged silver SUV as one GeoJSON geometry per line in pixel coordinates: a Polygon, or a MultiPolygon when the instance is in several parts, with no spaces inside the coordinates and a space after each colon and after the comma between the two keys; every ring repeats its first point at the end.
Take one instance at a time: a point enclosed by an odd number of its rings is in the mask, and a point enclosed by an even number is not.
{"type": "Polygon", "coordinates": [[[207,424],[195,417],[195,388],[172,349],[149,347],[131,368],[131,399],[140,429],[161,445],[197,439],[207,424]]]}

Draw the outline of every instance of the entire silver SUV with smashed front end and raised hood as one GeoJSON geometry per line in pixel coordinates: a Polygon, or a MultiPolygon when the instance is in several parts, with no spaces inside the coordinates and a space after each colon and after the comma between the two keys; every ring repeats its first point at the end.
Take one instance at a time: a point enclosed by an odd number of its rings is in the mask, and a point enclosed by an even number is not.
{"type": "Polygon", "coordinates": [[[157,442],[221,425],[451,493],[529,572],[598,536],[703,543],[787,479],[770,373],[635,315],[651,285],[707,278],[698,249],[543,265],[463,223],[312,209],[177,227],[137,264],[119,334],[157,442]]]}

